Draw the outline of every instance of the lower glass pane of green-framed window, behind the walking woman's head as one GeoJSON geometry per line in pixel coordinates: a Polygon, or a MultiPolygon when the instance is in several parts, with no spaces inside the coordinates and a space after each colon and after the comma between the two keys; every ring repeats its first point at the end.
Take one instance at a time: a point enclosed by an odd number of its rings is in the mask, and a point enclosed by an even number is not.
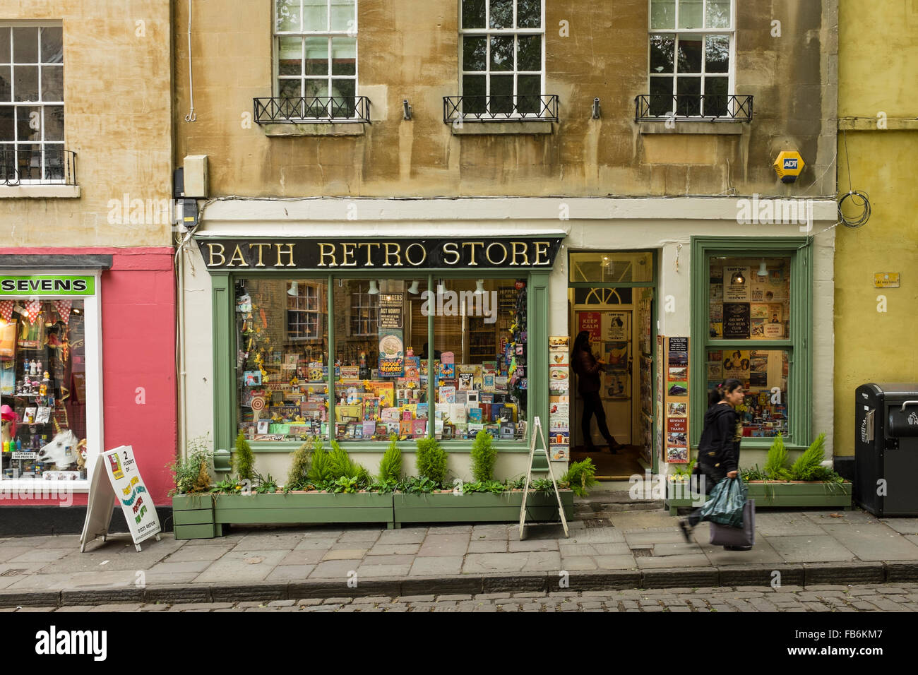
{"type": "Polygon", "coordinates": [[[708,388],[733,377],[743,383],[745,399],[737,411],[743,435],[787,437],[788,352],[777,349],[709,349],[708,388]]]}

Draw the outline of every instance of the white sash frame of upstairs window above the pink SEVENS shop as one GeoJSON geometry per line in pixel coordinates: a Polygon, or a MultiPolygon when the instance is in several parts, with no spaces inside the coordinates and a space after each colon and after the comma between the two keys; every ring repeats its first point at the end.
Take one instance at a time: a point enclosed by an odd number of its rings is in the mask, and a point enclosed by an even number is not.
{"type": "MultiPolygon", "coordinates": [[[[40,164],[39,164],[39,167],[38,167],[38,168],[39,168],[39,174],[40,174],[42,177],[41,177],[41,178],[28,178],[28,177],[24,177],[24,176],[18,176],[17,185],[20,185],[20,186],[57,186],[57,185],[65,185],[65,184],[67,183],[67,168],[66,168],[66,167],[67,167],[67,163],[68,163],[68,162],[67,162],[67,155],[66,155],[66,152],[65,152],[65,151],[66,151],[66,147],[67,147],[67,146],[66,146],[66,141],[67,141],[67,136],[66,136],[66,132],[67,132],[66,122],[64,123],[64,138],[63,138],[61,141],[45,141],[45,124],[44,124],[45,111],[44,111],[44,108],[45,108],[45,107],[62,107],[62,108],[64,108],[64,120],[66,120],[66,118],[67,118],[67,115],[66,115],[66,107],[65,107],[65,105],[64,105],[63,98],[62,98],[60,101],[42,101],[42,100],[41,100],[41,66],[42,66],[42,65],[52,65],[52,63],[50,63],[50,62],[49,62],[49,63],[43,63],[43,62],[41,61],[42,54],[41,54],[41,40],[40,40],[40,39],[39,39],[39,43],[38,43],[39,54],[38,54],[38,61],[37,61],[37,62],[35,62],[35,63],[17,63],[17,62],[15,62],[14,54],[16,53],[16,45],[15,45],[15,43],[14,43],[14,38],[13,38],[13,30],[12,30],[13,28],[61,28],[61,29],[62,29],[62,33],[63,33],[63,22],[62,22],[62,21],[3,21],[3,22],[0,22],[0,30],[8,30],[8,31],[9,31],[9,50],[10,50],[8,54],[0,54],[0,65],[10,67],[10,83],[9,83],[9,87],[10,87],[10,100],[9,100],[9,101],[0,101],[0,107],[12,107],[12,108],[14,108],[14,115],[13,115],[13,140],[12,140],[12,141],[6,141],[6,139],[0,139],[0,151],[13,150],[14,152],[16,152],[16,151],[17,151],[17,148],[18,148],[20,145],[21,145],[21,146],[38,145],[39,148],[40,148],[40,151],[39,151],[39,152],[40,152],[40,155],[39,155],[39,157],[40,157],[40,164]],[[39,69],[39,81],[38,81],[38,86],[39,86],[39,100],[37,100],[37,101],[17,101],[17,100],[16,100],[16,77],[15,77],[15,75],[14,75],[13,72],[14,72],[14,70],[15,70],[15,66],[17,66],[17,65],[32,65],[32,66],[37,66],[37,67],[38,67],[38,69],[39,69]],[[16,137],[17,137],[17,135],[18,135],[18,128],[17,128],[18,125],[17,125],[17,122],[16,122],[16,119],[17,119],[17,110],[16,110],[15,108],[18,108],[18,107],[38,107],[38,108],[41,109],[41,138],[39,139],[39,141],[18,141],[18,140],[17,140],[16,137]],[[46,150],[46,149],[48,149],[48,150],[60,150],[60,151],[62,151],[62,155],[61,155],[61,156],[62,156],[62,165],[61,165],[62,175],[61,175],[61,178],[53,178],[53,179],[51,179],[51,178],[44,178],[44,177],[43,177],[43,176],[45,175],[46,170],[47,170],[47,167],[46,167],[47,155],[46,155],[46,153],[45,153],[45,150],[46,150]]],[[[63,42],[62,42],[62,49],[63,49],[63,42]]],[[[55,65],[55,67],[57,67],[56,64],[53,64],[53,65],[55,65]]],[[[63,57],[62,57],[62,61],[61,61],[60,67],[61,67],[61,69],[64,68],[64,60],[63,60],[63,57]]],[[[63,89],[62,89],[62,93],[63,93],[63,89]]],[[[17,165],[18,165],[18,163],[17,163],[17,165]]],[[[0,180],[2,180],[2,178],[3,178],[3,176],[0,175],[0,180]]]]}

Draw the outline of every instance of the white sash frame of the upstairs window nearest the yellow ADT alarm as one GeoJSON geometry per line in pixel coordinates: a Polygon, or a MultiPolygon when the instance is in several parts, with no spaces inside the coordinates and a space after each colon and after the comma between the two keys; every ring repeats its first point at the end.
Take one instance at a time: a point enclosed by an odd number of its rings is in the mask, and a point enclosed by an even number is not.
{"type": "MultiPolygon", "coordinates": [[[[680,77],[699,77],[701,80],[701,96],[704,96],[704,83],[706,77],[723,77],[724,74],[727,76],[727,93],[726,96],[734,96],[736,93],[736,0],[730,0],[730,26],[728,28],[650,28],[651,21],[653,20],[653,2],[654,0],[647,0],[647,93],[650,96],[650,93],[653,91],[650,83],[653,81],[654,77],[672,77],[673,78],[673,96],[677,94],[678,88],[678,78],[680,77]],[[675,37],[673,43],[673,70],[670,73],[652,73],[650,70],[650,39],[655,35],[672,35],[675,37]],[[678,45],[679,38],[681,36],[691,36],[693,39],[701,39],[701,71],[700,73],[678,73],[678,45]],[[730,39],[730,54],[729,54],[729,65],[727,68],[727,73],[705,73],[705,38],[708,36],[726,36],[730,39]]],[[[679,6],[682,4],[683,0],[675,0],[676,2],[676,15],[674,18],[674,26],[679,25],[679,6]]],[[[702,4],[701,12],[701,26],[703,27],[706,23],[708,15],[708,3],[705,2],[702,4]]],[[[728,114],[735,114],[735,104],[731,104],[728,101],[727,104],[728,114]]],[[[711,115],[676,115],[677,99],[673,99],[672,110],[666,115],[659,116],[661,118],[675,116],[677,119],[708,119],[711,118],[711,115]]],[[[700,107],[703,109],[703,107],[700,107]]]]}

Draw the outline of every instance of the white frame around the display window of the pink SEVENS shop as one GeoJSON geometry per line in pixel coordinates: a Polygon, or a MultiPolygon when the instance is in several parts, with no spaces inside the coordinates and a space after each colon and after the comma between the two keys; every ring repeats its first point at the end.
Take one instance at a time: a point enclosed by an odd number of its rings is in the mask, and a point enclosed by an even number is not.
{"type": "MultiPolygon", "coordinates": [[[[4,276],[37,276],[47,272],[28,270],[4,270],[4,276]]],[[[55,296],[39,294],[29,296],[42,300],[82,299],[84,310],[84,356],[86,359],[86,478],[84,480],[38,480],[38,479],[4,479],[0,477],[0,493],[5,500],[41,499],[42,493],[60,495],[88,492],[93,482],[96,457],[104,452],[105,424],[102,399],[102,272],[99,270],[71,269],[54,270],[56,276],[94,276],[95,295],[92,296],[55,296]]],[[[17,296],[17,298],[20,298],[17,296]]],[[[12,299],[10,297],[9,299],[12,299]]],[[[6,403],[6,397],[3,397],[6,403]]],[[[104,470],[104,469],[103,469],[104,470]]],[[[53,498],[52,498],[53,499],[53,498]]],[[[45,499],[44,501],[48,501],[45,499]]],[[[21,503],[21,502],[20,502],[21,503]]],[[[73,502],[71,502],[73,503],[73,502]]],[[[64,505],[63,503],[61,505],[64,505]]],[[[68,504],[69,505],[69,504],[68,504]]]]}

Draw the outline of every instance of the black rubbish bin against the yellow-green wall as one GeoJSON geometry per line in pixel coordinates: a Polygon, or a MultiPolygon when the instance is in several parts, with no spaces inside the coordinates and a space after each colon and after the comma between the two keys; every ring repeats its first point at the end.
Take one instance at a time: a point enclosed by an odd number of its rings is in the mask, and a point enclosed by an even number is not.
{"type": "Polygon", "coordinates": [[[856,388],[854,500],[880,517],[918,516],[918,383],[856,388]]]}

